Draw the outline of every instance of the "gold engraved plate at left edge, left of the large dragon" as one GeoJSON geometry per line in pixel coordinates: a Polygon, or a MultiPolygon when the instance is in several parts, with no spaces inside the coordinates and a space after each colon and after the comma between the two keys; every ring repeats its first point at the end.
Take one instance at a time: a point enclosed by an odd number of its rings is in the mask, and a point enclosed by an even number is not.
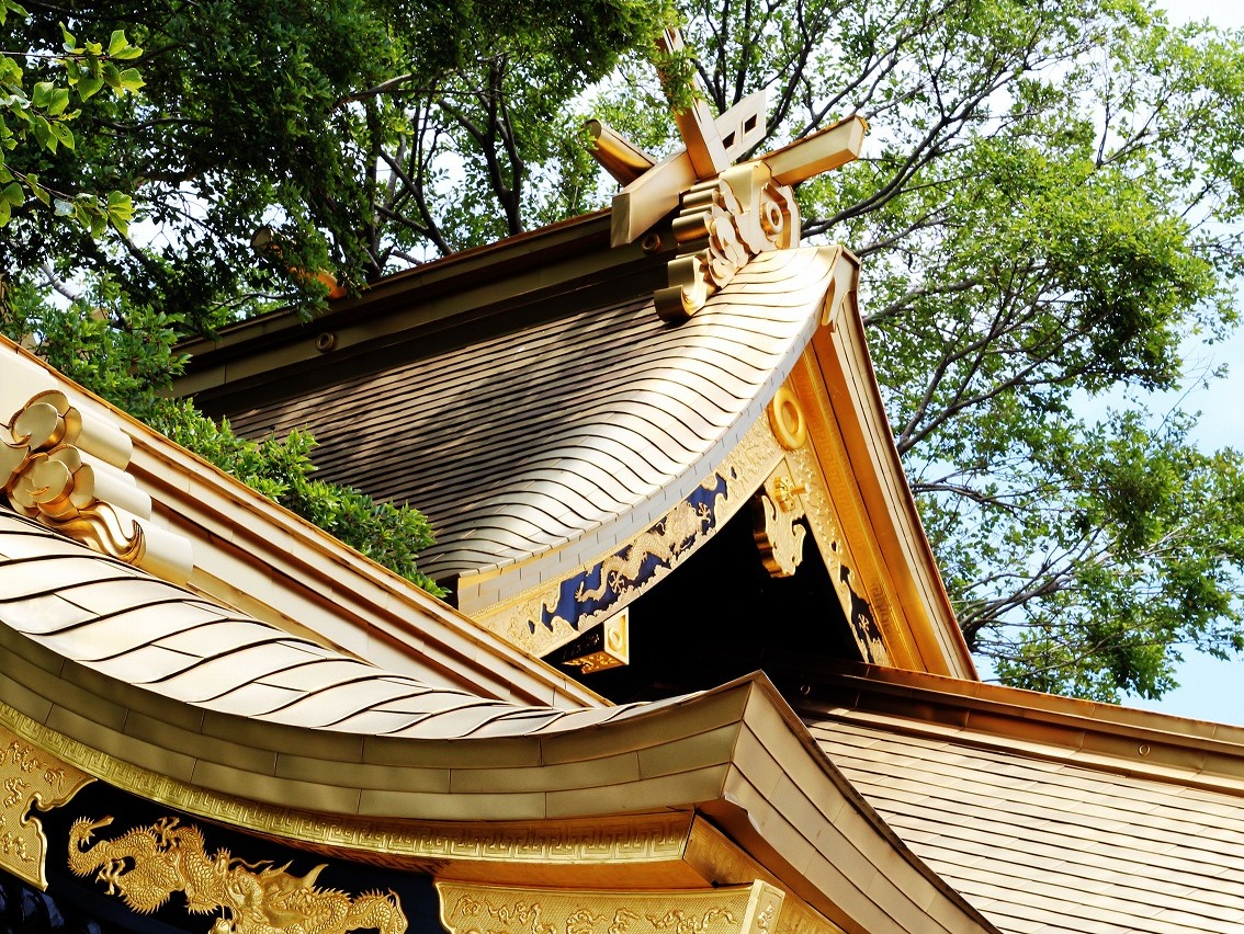
{"type": "Polygon", "coordinates": [[[41,889],[47,888],[47,838],[30,810],[68,803],[95,781],[0,726],[0,867],[41,889]]]}

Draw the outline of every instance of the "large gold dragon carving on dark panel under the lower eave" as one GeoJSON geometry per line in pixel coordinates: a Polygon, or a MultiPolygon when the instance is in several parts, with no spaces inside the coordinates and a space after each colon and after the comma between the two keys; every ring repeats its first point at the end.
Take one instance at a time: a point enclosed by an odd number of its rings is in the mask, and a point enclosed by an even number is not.
{"type": "Polygon", "coordinates": [[[203,832],[175,817],[92,843],[95,832],[112,821],[75,821],[68,868],[76,876],[95,873],[109,895],[138,914],[158,910],[182,892],[189,913],[219,913],[210,934],[346,934],[360,928],[401,934],[408,927],[396,892],[351,897],[316,885],[323,863],[294,876],[286,872],[289,863],[246,863],[228,849],[209,856],[203,832]]]}

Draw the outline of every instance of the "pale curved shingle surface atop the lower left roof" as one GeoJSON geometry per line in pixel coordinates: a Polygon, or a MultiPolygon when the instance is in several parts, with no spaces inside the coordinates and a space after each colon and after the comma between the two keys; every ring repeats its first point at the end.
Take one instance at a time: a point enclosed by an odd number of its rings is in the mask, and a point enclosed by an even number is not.
{"type": "Polygon", "coordinates": [[[121,683],[276,724],[449,739],[526,735],[626,716],[560,711],[430,687],[224,609],[0,510],[0,623],[121,683]],[[460,716],[463,711],[469,716],[460,716]]]}

